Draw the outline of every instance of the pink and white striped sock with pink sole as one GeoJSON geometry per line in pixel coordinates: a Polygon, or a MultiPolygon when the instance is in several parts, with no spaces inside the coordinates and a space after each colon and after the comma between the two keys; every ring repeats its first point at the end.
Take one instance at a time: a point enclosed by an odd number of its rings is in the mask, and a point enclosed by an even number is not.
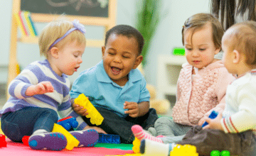
{"type": "Polygon", "coordinates": [[[152,141],[156,141],[156,142],[159,142],[159,143],[163,143],[163,141],[159,138],[156,138],[146,132],[144,132],[144,130],[142,129],[141,126],[139,125],[134,125],[132,126],[132,133],[134,133],[134,136],[136,138],[138,138],[139,140],[143,140],[143,139],[149,139],[149,140],[152,140],[152,141]]]}

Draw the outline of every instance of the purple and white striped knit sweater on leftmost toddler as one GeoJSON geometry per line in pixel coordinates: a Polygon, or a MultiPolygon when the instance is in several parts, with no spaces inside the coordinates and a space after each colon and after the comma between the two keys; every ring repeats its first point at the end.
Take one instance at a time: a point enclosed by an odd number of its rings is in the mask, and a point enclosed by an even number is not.
{"type": "Polygon", "coordinates": [[[8,99],[2,110],[0,110],[0,117],[2,114],[9,111],[18,111],[26,107],[41,107],[51,108],[58,112],[60,118],[73,116],[78,121],[78,130],[82,130],[87,124],[82,118],[73,111],[70,102],[70,81],[68,76],[63,74],[61,77],[51,69],[48,60],[36,61],[28,65],[21,74],[11,82],[9,85],[8,99]],[[50,82],[54,91],[51,93],[26,96],[26,89],[34,84],[40,82],[50,82]]]}

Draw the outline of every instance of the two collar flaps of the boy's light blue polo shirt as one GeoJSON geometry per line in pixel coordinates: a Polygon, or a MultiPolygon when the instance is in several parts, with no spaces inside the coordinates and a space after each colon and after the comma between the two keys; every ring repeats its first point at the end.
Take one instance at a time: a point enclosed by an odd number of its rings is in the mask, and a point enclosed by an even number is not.
{"type": "MultiPolygon", "coordinates": [[[[97,65],[97,72],[96,77],[98,82],[105,82],[105,83],[112,83],[112,80],[107,75],[107,72],[105,71],[103,67],[103,60],[101,60],[97,65]]],[[[132,69],[129,74],[129,81],[128,82],[137,82],[140,79],[142,79],[142,74],[137,71],[138,69],[132,69]]]]}

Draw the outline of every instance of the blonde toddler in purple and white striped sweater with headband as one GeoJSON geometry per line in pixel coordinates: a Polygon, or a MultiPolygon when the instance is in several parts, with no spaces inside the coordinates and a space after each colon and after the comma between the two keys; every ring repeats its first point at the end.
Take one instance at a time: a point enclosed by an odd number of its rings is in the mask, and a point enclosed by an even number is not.
{"type": "Polygon", "coordinates": [[[43,29],[39,37],[41,55],[46,60],[28,65],[9,85],[10,99],[0,111],[1,128],[8,138],[21,142],[30,135],[34,150],[63,150],[67,139],[62,133],[52,133],[58,116],[73,116],[78,121],[70,133],[80,141],[80,147],[97,143],[96,130],[71,108],[67,75],[77,72],[85,51],[85,28],[78,21],[59,19],[43,29]]]}

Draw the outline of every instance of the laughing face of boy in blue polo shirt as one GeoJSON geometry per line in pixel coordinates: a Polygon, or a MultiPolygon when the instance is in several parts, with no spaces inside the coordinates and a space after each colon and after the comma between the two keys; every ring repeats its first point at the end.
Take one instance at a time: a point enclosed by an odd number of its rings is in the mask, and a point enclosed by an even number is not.
{"type": "Polygon", "coordinates": [[[102,47],[103,66],[110,79],[124,86],[131,69],[136,69],[142,62],[143,57],[138,54],[139,47],[135,38],[114,33],[110,35],[106,47],[102,47]]]}

